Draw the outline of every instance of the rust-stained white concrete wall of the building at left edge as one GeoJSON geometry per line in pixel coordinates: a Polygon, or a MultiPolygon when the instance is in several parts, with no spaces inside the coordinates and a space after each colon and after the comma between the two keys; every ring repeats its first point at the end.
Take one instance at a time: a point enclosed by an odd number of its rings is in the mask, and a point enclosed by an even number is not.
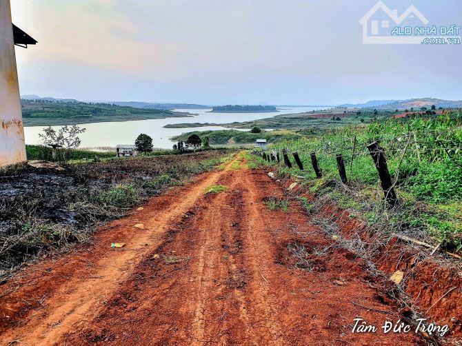
{"type": "Polygon", "coordinates": [[[26,161],[10,0],[0,0],[0,166],[26,161]]]}

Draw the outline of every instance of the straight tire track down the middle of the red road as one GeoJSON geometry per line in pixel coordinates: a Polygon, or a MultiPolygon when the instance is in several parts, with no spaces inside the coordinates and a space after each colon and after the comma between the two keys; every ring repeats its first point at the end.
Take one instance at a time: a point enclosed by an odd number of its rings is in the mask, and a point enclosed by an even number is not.
{"type": "Polygon", "coordinates": [[[203,245],[199,252],[198,269],[203,275],[199,282],[199,299],[194,314],[198,320],[193,322],[200,323],[200,327],[194,329],[193,343],[227,344],[230,336],[245,339],[245,335],[236,335],[239,333],[236,325],[244,325],[247,320],[245,309],[227,307],[228,303],[234,307],[242,304],[242,299],[239,299],[241,297],[229,292],[230,288],[234,291],[240,286],[232,257],[232,253],[237,250],[234,249],[236,241],[232,239],[232,225],[237,222],[239,210],[227,203],[237,187],[233,180],[232,173],[222,176],[219,184],[225,185],[228,191],[214,196],[213,199],[206,197],[210,199],[210,203],[202,221],[208,228],[203,232],[203,245]],[[228,323],[229,320],[234,323],[228,323]]]}

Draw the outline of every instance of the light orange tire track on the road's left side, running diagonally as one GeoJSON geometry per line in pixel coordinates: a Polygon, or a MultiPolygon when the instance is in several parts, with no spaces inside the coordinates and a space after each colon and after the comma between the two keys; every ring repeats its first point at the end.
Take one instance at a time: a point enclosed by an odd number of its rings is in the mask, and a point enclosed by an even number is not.
{"type": "MultiPolygon", "coordinates": [[[[46,305],[41,302],[42,306],[46,306],[46,309],[41,310],[43,312],[32,311],[25,316],[23,325],[4,332],[2,330],[0,340],[6,343],[10,340],[21,340],[26,343],[32,342],[34,345],[52,345],[57,343],[63,334],[71,332],[76,323],[88,321],[96,316],[118,285],[130,276],[135,265],[149,251],[149,247],[145,245],[159,243],[159,236],[167,230],[172,218],[183,214],[194,205],[203,195],[205,188],[214,185],[236,160],[237,158],[234,158],[228,163],[223,171],[205,174],[199,183],[188,188],[188,192],[183,194],[178,203],[170,203],[161,213],[151,210],[139,215],[139,221],[145,224],[146,230],[131,232],[130,241],[126,241],[128,245],[123,251],[108,251],[105,254],[101,253],[100,258],[94,258],[97,259],[95,263],[88,263],[88,271],[91,273],[86,273],[87,280],[82,280],[83,273],[76,276],[72,275],[73,271],[69,272],[68,280],[46,300],[46,305]],[[98,281],[88,282],[88,278],[96,278],[98,281]]],[[[134,223],[135,221],[136,218],[134,223]]],[[[110,242],[100,245],[108,247],[110,242]]],[[[12,311],[13,307],[6,303],[6,309],[12,311]]]]}

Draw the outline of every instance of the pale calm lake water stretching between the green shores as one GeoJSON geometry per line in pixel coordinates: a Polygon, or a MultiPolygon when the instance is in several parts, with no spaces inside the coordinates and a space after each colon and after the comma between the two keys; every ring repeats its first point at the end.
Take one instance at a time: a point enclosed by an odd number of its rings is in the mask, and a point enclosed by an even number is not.
{"type": "MultiPolygon", "coordinates": [[[[252,121],[263,118],[270,118],[278,114],[290,114],[319,110],[312,107],[285,108],[279,112],[271,113],[211,113],[211,109],[204,110],[176,110],[178,112],[189,112],[194,116],[185,118],[149,119],[138,121],[114,121],[110,123],[88,123],[80,124],[86,128],[86,132],[79,137],[82,141],[81,147],[115,147],[117,144],[132,144],[141,133],[152,137],[154,147],[170,149],[174,142],[172,136],[184,132],[207,131],[207,130],[230,130],[221,126],[207,126],[203,128],[163,128],[164,125],[174,123],[232,123],[234,121],[252,121]]],[[[53,126],[60,128],[61,126],[53,126]]],[[[24,128],[26,144],[40,144],[39,133],[46,126],[30,126],[24,128]]]]}

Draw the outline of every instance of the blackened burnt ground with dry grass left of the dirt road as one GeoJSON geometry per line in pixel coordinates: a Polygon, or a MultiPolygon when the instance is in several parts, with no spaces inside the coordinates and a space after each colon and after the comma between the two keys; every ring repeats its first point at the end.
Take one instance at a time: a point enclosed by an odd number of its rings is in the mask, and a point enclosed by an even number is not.
{"type": "Polygon", "coordinates": [[[99,223],[212,167],[227,152],[0,172],[0,278],[23,261],[84,241],[99,223]],[[203,164],[202,164],[203,163],[203,164]],[[117,188],[117,187],[120,188],[117,188]]]}

